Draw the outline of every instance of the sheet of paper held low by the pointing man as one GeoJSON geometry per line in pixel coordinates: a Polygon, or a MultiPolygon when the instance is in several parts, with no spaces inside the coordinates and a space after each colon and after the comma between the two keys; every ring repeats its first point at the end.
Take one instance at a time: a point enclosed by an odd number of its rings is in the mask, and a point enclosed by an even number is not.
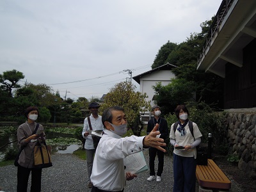
{"type": "Polygon", "coordinates": [[[141,173],[148,170],[143,152],[131,154],[124,159],[125,172],[141,173]]]}

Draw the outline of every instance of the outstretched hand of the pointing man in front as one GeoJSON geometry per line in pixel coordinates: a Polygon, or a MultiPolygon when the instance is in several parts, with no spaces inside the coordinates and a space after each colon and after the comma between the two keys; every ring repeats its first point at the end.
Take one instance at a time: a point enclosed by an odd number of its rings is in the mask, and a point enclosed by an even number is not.
{"type": "Polygon", "coordinates": [[[147,136],[145,136],[143,140],[143,146],[154,147],[154,148],[157,148],[158,150],[166,152],[166,150],[162,148],[166,146],[166,143],[164,143],[164,140],[162,138],[156,138],[156,136],[160,134],[160,132],[157,131],[158,127],[159,127],[159,124],[156,124],[154,129],[152,129],[152,131],[147,136]]]}

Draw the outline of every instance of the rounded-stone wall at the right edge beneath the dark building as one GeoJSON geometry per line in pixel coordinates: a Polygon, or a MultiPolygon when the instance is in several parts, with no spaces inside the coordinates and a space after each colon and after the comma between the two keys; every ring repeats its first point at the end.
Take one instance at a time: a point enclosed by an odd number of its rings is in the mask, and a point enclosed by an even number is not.
{"type": "Polygon", "coordinates": [[[239,156],[238,167],[256,179],[256,114],[227,113],[229,154],[239,156]]]}

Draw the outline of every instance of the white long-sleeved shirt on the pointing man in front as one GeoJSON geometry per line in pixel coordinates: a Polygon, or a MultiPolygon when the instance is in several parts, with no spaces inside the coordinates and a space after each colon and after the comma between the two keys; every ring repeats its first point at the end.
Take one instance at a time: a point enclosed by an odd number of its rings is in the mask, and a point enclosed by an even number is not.
{"type": "Polygon", "coordinates": [[[93,186],[106,191],[122,191],[126,182],[124,158],[143,150],[144,137],[121,138],[105,129],[93,161],[93,186]]]}

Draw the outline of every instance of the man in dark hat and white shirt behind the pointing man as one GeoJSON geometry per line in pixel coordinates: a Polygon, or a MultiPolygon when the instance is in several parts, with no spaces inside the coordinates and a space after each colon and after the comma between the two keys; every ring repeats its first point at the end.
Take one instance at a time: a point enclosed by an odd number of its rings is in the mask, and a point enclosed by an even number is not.
{"type": "Polygon", "coordinates": [[[88,170],[88,187],[92,188],[92,182],[90,180],[90,177],[92,175],[92,166],[93,166],[93,156],[95,154],[95,148],[93,147],[93,140],[92,140],[92,134],[90,132],[96,131],[96,130],[102,130],[103,124],[101,120],[101,116],[98,115],[98,109],[100,105],[97,104],[97,102],[92,102],[89,105],[90,112],[92,113],[90,116],[86,117],[84,119],[84,127],[83,127],[83,132],[82,135],[86,139],[84,143],[84,148],[86,152],[86,161],[87,161],[87,170],[88,170]],[[88,122],[88,118],[90,118],[90,123],[92,125],[92,130],[90,131],[90,125],[88,122]]]}

